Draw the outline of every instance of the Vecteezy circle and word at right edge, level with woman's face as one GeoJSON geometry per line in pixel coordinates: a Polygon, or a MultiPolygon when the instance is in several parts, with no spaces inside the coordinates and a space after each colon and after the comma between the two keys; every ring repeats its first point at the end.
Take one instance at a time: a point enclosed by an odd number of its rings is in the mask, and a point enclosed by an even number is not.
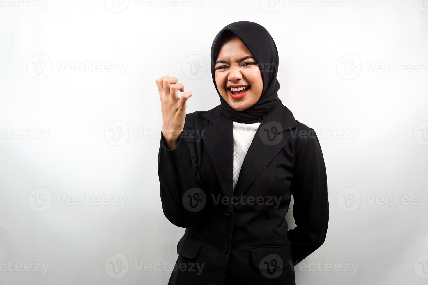
{"type": "MultiPolygon", "coordinates": [[[[366,60],[365,63],[369,72],[428,72],[428,62],[399,62],[398,60],[393,62],[378,62],[377,60],[366,60]]],[[[339,59],[336,64],[336,71],[342,78],[354,79],[360,75],[362,67],[361,60],[357,55],[348,54],[339,59]]]]}

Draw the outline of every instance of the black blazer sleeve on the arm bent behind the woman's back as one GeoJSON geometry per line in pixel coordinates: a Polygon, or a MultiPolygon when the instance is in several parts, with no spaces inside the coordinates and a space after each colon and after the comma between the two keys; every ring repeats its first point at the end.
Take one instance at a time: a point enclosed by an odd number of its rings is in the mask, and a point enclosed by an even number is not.
{"type": "Polygon", "coordinates": [[[327,234],[329,205],[327,173],[321,145],[311,128],[295,158],[291,194],[296,227],[287,231],[294,265],[320,247],[327,234]]]}

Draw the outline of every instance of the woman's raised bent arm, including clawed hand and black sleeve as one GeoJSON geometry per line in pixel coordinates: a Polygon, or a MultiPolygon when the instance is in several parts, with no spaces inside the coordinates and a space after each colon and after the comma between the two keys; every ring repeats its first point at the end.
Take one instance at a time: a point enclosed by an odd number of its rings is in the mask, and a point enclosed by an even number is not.
{"type": "Polygon", "coordinates": [[[199,212],[197,207],[192,208],[193,194],[199,189],[192,165],[194,158],[189,149],[189,144],[193,144],[193,141],[184,136],[187,129],[194,129],[186,116],[186,102],[192,92],[184,92],[184,85],[177,83],[175,77],[162,76],[156,79],[156,84],[163,120],[158,155],[163,214],[175,226],[187,228],[199,212]],[[177,90],[184,92],[180,98],[177,90]]]}

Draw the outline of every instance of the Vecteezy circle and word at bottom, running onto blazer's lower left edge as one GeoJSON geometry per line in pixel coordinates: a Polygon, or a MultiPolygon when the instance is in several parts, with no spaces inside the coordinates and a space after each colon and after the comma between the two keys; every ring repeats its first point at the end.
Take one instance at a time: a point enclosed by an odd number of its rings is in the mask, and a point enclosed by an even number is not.
{"type": "MultiPolygon", "coordinates": [[[[187,263],[175,263],[175,262],[147,262],[144,260],[134,260],[135,271],[141,272],[171,272],[171,271],[187,271],[194,272],[196,275],[200,275],[205,266],[205,263],[198,262],[187,262],[187,263]]],[[[104,271],[108,276],[114,279],[120,279],[126,276],[130,270],[130,264],[128,258],[123,254],[115,254],[110,256],[104,262],[104,271]]]]}

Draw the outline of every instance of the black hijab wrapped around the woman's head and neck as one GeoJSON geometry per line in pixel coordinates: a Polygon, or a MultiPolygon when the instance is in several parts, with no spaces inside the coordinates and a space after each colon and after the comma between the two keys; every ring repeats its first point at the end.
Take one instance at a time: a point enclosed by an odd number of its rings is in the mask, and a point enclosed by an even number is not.
{"type": "Polygon", "coordinates": [[[220,96],[220,109],[223,115],[238,123],[260,122],[265,115],[272,110],[278,102],[279,82],[276,79],[278,73],[278,50],[273,38],[265,27],[250,21],[238,21],[225,26],[218,32],[211,46],[211,74],[214,86],[220,96]],[[222,44],[222,35],[225,31],[235,34],[247,47],[256,59],[262,73],[263,91],[259,101],[250,108],[236,111],[226,100],[221,97],[215,82],[215,60],[217,59],[222,44]]]}

